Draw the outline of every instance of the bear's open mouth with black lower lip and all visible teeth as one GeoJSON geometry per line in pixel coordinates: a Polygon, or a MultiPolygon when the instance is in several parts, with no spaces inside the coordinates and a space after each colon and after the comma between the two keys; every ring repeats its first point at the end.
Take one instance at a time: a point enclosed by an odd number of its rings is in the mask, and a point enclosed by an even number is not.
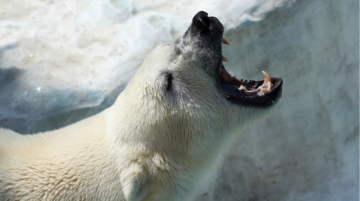
{"type": "MultiPolygon", "coordinates": [[[[230,45],[226,39],[223,39],[222,43],[230,45]]],[[[222,61],[229,60],[223,56],[222,61]]],[[[237,79],[236,76],[231,76],[221,63],[220,86],[225,97],[235,103],[265,106],[279,95],[283,80],[279,77],[270,77],[265,71],[262,71],[262,74],[264,80],[237,79]]]]}

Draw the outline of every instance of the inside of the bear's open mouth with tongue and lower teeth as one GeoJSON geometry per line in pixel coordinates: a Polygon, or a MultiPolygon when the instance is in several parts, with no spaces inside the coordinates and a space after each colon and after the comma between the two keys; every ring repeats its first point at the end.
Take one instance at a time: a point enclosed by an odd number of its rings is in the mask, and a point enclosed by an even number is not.
{"type": "Polygon", "coordinates": [[[263,71],[264,80],[244,80],[231,76],[225,70],[223,64],[220,66],[220,83],[224,93],[234,97],[256,97],[265,96],[274,89],[271,77],[263,71]]]}

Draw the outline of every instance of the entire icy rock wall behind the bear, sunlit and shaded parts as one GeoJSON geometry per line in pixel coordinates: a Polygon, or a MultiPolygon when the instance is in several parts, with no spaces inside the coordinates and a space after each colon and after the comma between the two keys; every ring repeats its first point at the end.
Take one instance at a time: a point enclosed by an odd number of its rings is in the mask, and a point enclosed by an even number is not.
{"type": "Polygon", "coordinates": [[[359,200],[355,0],[5,3],[0,126],[35,133],[102,111],[199,10],[224,24],[228,71],[259,80],[265,70],[284,85],[197,200],[359,200]]]}

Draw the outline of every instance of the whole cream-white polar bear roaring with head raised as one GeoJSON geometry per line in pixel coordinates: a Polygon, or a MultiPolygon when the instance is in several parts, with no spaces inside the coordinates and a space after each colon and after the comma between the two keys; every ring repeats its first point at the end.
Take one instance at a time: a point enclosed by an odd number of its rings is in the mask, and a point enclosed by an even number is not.
{"type": "Polygon", "coordinates": [[[0,130],[0,200],[186,200],[249,122],[281,97],[282,79],[236,79],[224,27],[195,15],[156,47],[116,102],[58,130],[0,130]]]}

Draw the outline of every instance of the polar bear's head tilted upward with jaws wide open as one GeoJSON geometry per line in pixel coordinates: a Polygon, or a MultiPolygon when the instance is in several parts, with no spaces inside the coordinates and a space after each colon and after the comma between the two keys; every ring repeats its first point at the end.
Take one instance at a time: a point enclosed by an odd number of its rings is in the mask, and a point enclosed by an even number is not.
{"type": "Polygon", "coordinates": [[[210,153],[275,106],[282,79],[230,76],[222,64],[223,32],[220,21],[202,11],[174,44],[150,52],[112,107],[108,129],[117,140],[158,151],[210,153]]]}

